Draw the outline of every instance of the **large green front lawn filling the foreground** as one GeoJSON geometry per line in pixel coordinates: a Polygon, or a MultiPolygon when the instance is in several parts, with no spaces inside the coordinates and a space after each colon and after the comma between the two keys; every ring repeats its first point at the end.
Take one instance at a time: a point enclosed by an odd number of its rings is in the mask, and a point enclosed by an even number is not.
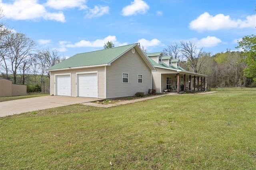
{"type": "Polygon", "coordinates": [[[0,169],[253,170],[255,101],[232,88],[2,117],[0,169]]]}

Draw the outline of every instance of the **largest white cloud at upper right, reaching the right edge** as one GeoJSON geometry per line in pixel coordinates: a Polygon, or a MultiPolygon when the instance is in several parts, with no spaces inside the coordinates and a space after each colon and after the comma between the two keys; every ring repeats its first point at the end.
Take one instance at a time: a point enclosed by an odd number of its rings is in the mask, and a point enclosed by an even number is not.
{"type": "Polygon", "coordinates": [[[198,31],[216,31],[219,29],[255,27],[256,15],[247,16],[246,20],[232,20],[230,16],[217,14],[211,16],[208,12],[201,14],[190,22],[189,27],[198,31]]]}

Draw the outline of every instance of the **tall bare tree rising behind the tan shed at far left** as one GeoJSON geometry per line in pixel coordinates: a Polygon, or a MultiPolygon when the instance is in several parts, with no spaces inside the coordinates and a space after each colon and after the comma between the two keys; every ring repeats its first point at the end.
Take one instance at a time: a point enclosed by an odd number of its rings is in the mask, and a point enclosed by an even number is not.
{"type": "Polygon", "coordinates": [[[11,44],[8,46],[7,60],[10,62],[10,71],[14,77],[14,84],[16,84],[17,71],[24,64],[23,62],[30,58],[36,44],[23,33],[12,33],[7,36],[7,41],[11,44]]]}

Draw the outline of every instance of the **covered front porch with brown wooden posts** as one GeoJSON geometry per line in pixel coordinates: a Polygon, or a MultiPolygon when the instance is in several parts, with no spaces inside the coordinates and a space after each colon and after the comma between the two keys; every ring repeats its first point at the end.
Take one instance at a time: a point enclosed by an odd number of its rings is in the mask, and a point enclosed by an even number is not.
{"type": "Polygon", "coordinates": [[[196,73],[178,72],[161,74],[161,92],[196,92],[206,91],[206,76],[196,73]]]}

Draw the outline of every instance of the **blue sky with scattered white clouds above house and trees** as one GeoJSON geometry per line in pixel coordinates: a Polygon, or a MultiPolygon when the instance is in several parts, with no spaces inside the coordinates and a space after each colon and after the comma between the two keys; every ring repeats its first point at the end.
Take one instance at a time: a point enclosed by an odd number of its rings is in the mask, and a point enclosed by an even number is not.
{"type": "Polygon", "coordinates": [[[148,53],[191,41],[202,51],[237,51],[256,34],[255,0],[0,0],[6,23],[63,57],[140,42],[148,53]]]}

